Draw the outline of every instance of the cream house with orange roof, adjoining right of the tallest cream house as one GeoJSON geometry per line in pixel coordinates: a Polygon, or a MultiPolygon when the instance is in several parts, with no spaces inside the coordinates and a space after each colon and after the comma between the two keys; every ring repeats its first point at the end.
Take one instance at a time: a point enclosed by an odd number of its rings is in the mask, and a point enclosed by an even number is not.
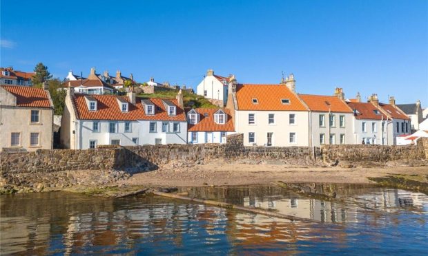
{"type": "Polygon", "coordinates": [[[335,96],[299,94],[309,107],[311,145],[354,144],[353,111],[344,102],[342,88],[336,88],[335,96]]]}

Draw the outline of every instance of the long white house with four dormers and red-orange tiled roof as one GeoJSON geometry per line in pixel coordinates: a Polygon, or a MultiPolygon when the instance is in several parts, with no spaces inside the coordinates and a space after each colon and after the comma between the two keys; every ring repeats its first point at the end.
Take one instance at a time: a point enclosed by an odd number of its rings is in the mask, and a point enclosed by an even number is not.
{"type": "Polygon", "coordinates": [[[69,88],[61,120],[61,144],[67,149],[185,144],[186,114],[180,102],[179,98],[141,100],[133,92],[128,96],[78,94],[69,88]]]}

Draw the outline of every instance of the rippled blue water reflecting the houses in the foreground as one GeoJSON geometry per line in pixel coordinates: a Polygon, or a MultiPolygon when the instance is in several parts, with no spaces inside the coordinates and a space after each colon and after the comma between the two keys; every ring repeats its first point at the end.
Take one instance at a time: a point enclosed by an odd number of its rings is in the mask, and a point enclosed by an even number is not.
{"type": "Polygon", "coordinates": [[[333,189],[340,198],[335,203],[304,199],[269,186],[182,189],[198,198],[273,209],[322,224],[159,197],[4,195],[0,197],[0,253],[427,253],[426,195],[356,185],[333,189]]]}

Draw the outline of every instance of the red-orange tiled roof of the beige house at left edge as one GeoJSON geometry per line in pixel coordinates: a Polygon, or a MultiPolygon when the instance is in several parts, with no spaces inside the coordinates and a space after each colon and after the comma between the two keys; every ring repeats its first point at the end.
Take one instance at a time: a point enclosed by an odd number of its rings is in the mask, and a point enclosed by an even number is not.
{"type": "Polygon", "coordinates": [[[42,88],[1,85],[6,91],[17,97],[19,107],[52,107],[48,93],[42,88]]]}

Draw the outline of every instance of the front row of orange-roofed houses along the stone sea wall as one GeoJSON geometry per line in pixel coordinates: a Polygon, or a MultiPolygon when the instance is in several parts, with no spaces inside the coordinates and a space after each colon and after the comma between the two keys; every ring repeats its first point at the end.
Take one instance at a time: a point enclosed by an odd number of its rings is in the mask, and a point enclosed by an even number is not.
{"type": "MultiPolygon", "coordinates": [[[[91,73],[95,75],[95,70],[91,73]]],[[[187,109],[181,91],[175,99],[138,98],[132,91],[126,96],[90,94],[73,87],[83,79],[70,80],[61,145],[91,149],[224,143],[234,133],[244,134],[246,146],[396,145],[398,137],[411,134],[410,118],[393,97],[389,103],[380,103],[373,94],[362,102],[359,95],[346,99],[341,88],[331,96],[298,94],[292,75],[279,84],[237,83],[232,75],[214,78],[226,88],[226,107],[187,109]]],[[[51,149],[53,106],[48,91],[13,85],[0,88],[0,147],[51,149]]],[[[213,91],[209,86],[205,89],[213,91]]]]}

